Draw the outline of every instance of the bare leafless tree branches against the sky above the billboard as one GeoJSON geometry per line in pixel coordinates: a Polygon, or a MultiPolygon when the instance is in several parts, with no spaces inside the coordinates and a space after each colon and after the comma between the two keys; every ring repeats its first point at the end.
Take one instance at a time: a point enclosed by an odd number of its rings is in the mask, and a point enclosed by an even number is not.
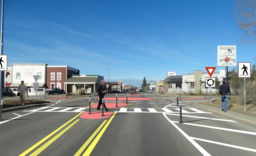
{"type": "Polygon", "coordinates": [[[256,42],[256,1],[236,0],[234,20],[244,32],[241,42],[252,44],[256,42]]]}

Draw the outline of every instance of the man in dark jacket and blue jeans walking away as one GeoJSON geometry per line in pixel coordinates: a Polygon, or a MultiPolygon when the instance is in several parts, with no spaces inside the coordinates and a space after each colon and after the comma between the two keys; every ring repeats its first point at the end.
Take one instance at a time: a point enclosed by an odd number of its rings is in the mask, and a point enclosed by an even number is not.
{"type": "Polygon", "coordinates": [[[230,87],[226,83],[226,80],[222,80],[222,84],[220,85],[219,92],[221,94],[221,110],[224,112],[228,111],[228,99],[231,95],[230,87]]]}

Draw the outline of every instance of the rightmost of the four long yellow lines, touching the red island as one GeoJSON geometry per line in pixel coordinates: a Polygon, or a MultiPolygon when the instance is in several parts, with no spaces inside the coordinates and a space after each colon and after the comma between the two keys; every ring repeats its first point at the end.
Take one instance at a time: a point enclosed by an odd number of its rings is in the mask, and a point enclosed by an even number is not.
{"type": "Polygon", "coordinates": [[[103,133],[106,131],[108,125],[110,124],[110,122],[112,121],[112,119],[115,117],[116,112],[111,116],[111,118],[108,120],[107,124],[102,128],[102,130],[100,131],[100,133],[97,135],[97,137],[92,141],[92,144],[87,148],[87,150],[84,152],[83,156],[87,156],[90,155],[92,150],[94,149],[94,147],[96,146],[96,144],[99,142],[101,136],[103,135],[103,133]]]}

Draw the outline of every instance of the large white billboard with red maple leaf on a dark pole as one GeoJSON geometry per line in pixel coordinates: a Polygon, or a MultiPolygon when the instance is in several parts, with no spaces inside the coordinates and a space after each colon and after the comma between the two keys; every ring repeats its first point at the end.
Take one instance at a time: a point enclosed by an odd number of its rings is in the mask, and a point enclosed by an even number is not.
{"type": "Polygon", "coordinates": [[[218,66],[236,66],[236,46],[218,46],[218,66]]]}

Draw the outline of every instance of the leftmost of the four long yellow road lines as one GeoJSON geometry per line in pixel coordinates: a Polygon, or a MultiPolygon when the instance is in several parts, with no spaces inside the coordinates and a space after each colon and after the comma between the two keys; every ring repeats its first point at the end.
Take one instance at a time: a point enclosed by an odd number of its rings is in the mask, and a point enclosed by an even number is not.
{"type": "Polygon", "coordinates": [[[79,115],[81,115],[83,112],[79,113],[78,115],[76,115],[75,117],[73,117],[71,120],[69,120],[68,122],[66,122],[65,124],[63,124],[62,126],[60,126],[60,128],[56,129],[55,131],[53,131],[51,134],[49,134],[48,136],[46,136],[45,138],[43,138],[42,140],[40,140],[39,142],[37,142],[35,145],[33,145],[32,147],[30,147],[29,149],[27,149],[25,152],[21,153],[19,156],[24,156],[26,154],[28,154],[29,152],[31,152],[33,149],[35,149],[37,146],[39,146],[40,144],[42,144],[45,140],[47,140],[48,138],[50,138],[52,135],[54,135],[55,133],[57,133],[58,131],[60,131],[64,126],[66,126],[67,124],[69,124],[71,121],[73,121],[76,117],[78,117],[79,115]]]}

